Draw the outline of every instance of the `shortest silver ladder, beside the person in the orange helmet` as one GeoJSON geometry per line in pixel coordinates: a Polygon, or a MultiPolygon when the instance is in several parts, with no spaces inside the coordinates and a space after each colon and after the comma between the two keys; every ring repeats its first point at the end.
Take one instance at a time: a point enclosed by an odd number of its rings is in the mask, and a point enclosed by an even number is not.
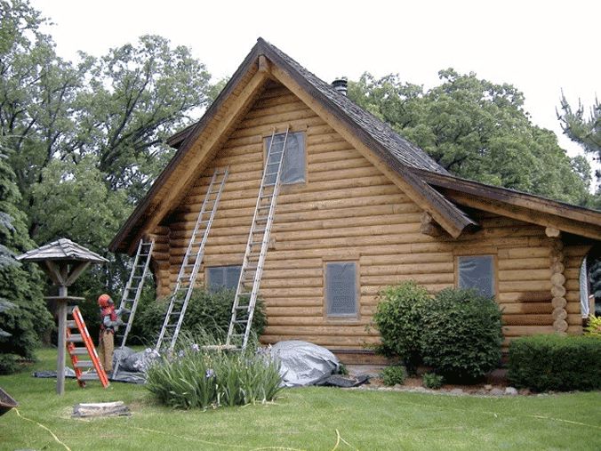
{"type": "Polygon", "coordinates": [[[146,280],[148,265],[154,246],[154,240],[144,241],[144,239],[140,239],[138,251],[133,259],[132,273],[130,274],[129,280],[127,280],[127,284],[125,284],[124,292],[121,296],[119,310],[121,310],[121,319],[124,322],[125,329],[123,334],[116,333],[115,335],[117,340],[121,340],[121,344],[118,348],[120,352],[117,353],[115,367],[113,368],[113,376],[116,376],[119,371],[127,335],[129,335],[130,330],[132,330],[133,316],[136,314],[138,301],[140,301],[140,295],[142,294],[142,288],[144,286],[144,281],[146,280]]]}

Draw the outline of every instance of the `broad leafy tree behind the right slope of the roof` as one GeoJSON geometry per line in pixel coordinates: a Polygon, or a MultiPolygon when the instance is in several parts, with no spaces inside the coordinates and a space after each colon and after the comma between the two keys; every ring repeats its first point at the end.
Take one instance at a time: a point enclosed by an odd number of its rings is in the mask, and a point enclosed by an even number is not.
{"type": "Polygon", "coordinates": [[[395,75],[376,79],[365,73],[349,84],[349,97],[451,173],[574,204],[589,202],[587,162],[571,160],[554,133],[532,124],[523,93],[452,68],[439,77],[441,85],[426,91],[395,75]]]}

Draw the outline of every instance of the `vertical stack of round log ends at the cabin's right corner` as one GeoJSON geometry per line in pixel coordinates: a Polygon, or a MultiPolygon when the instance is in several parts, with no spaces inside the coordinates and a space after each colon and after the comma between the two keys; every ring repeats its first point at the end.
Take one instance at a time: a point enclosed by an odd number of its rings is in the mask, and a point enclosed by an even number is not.
{"type": "Polygon", "coordinates": [[[559,238],[560,232],[557,229],[548,227],[545,230],[545,234],[549,238],[556,238],[553,240],[551,245],[551,253],[549,255],[550,268],[551,268],[551,294],[553,300],[553,312],[551,313],[553,318],[553,329],[557,334],[565,334],[568,328],[568,324],[565,321],[567,318],[567,311],[565,307],[567,301],[565,300],[565,275],[564,269],[564,243],[559,238]]]}

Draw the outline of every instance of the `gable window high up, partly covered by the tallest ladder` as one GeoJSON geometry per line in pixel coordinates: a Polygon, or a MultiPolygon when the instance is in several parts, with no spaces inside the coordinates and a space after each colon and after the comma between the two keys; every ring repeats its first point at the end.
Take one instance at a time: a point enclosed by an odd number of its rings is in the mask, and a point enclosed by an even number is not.
{"type": "MultiPolygon", "coordinates": [[[[271,147],[272,154],[281,152],[284,148],[285,133],[276,134],[274,136],[273,146],[271,147]]],[[[267,151],[271,143],[271,136],[266,140],[267,151]]],[[[275,154],[267,158],[268,175],[267,184],[273,185],[276,183],[276,167],[272,163],[279,161],[279,155],[275,154]]],[[[284,162],[282,167],[282,184],[300,183],[306,181],[305,176],[305,134],[304,133],[288,133],[286,139],[286,151],[284,152],[284,162]]]]}

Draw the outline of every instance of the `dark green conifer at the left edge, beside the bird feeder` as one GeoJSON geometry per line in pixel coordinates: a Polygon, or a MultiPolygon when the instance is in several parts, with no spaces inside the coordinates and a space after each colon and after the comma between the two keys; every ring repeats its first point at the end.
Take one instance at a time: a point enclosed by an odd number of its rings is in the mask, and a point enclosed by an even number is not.
{"type": "Polygon", "coordinates": [[[31,248],[20,193],[0,140],[0,374],[17,369],[18,358],[33,358],[39,336],[52,327],[39,271],[14,260],[31,248]]]}

